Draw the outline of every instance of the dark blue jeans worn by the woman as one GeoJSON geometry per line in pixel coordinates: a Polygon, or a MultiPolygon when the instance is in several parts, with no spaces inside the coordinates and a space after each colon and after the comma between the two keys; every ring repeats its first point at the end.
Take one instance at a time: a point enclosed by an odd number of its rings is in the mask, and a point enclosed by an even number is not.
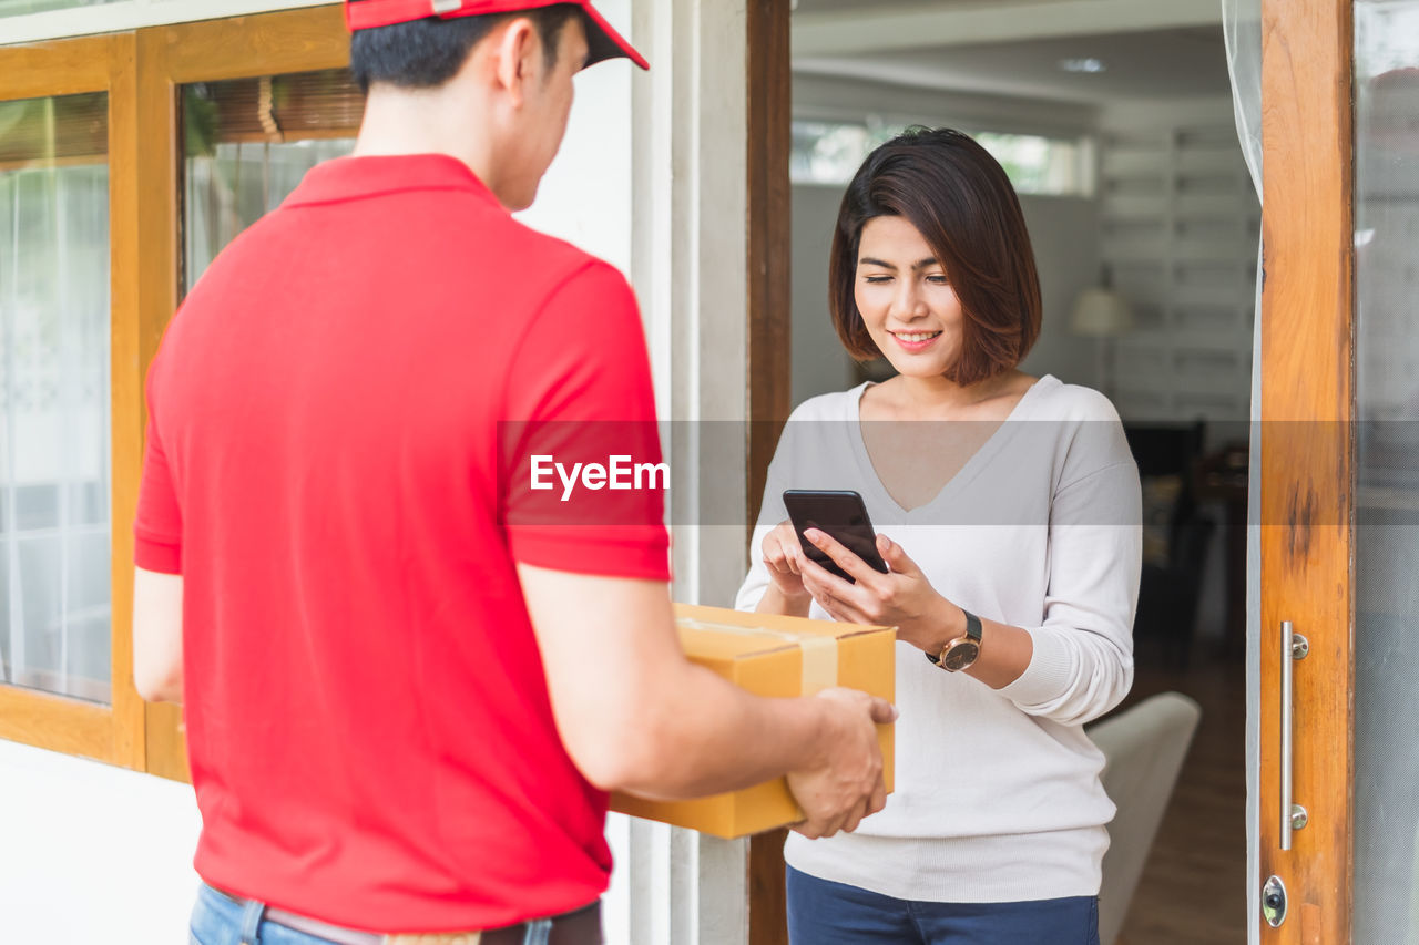
{"type": "Polygon", "coordinates": [[[1098,897],[918,902],[788,867],[792,945],[1098,945],[1098,897]]]}

